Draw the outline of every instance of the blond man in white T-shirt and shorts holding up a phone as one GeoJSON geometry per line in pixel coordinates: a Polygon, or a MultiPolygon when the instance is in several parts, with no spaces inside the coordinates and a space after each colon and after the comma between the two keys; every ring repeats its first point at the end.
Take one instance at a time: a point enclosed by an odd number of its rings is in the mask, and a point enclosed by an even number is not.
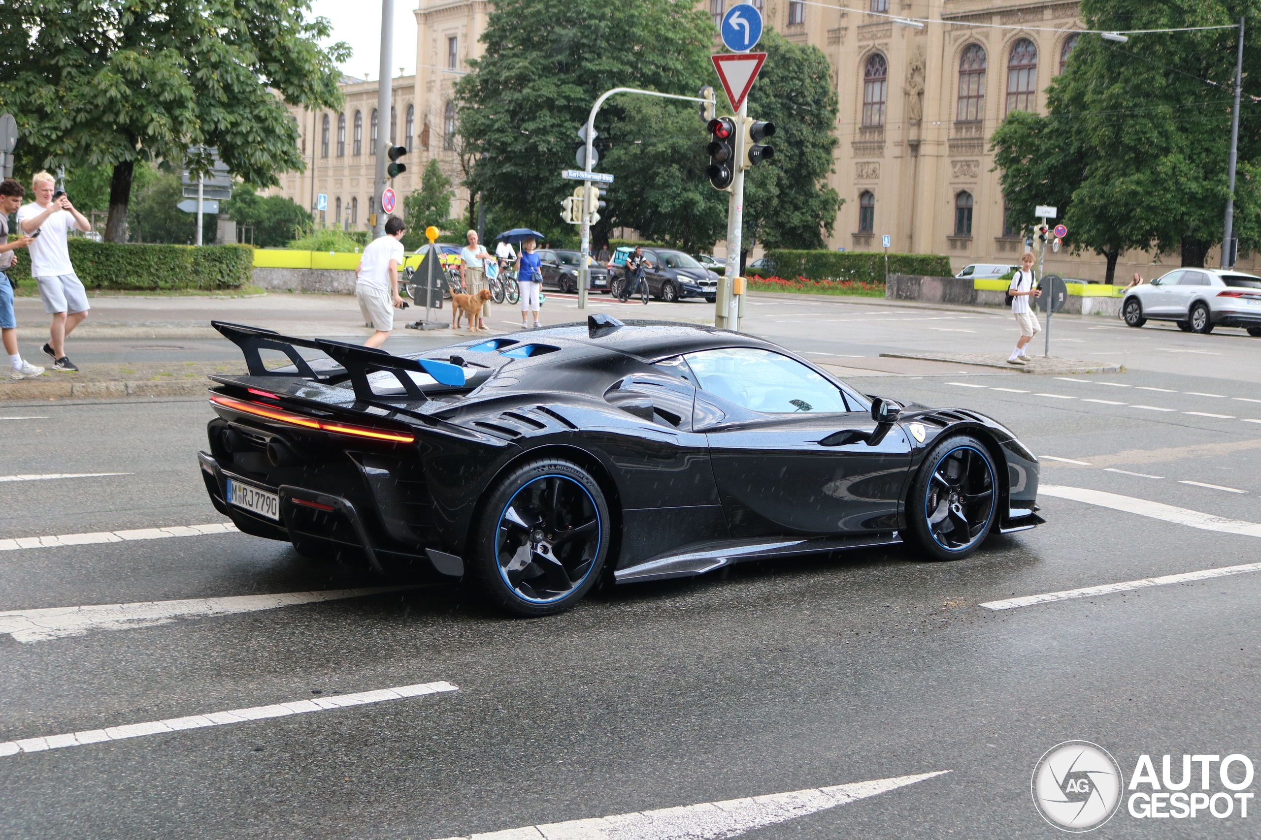
{"type": "Polygon", "coordinates": [[[55,180],[48,173],[35,173],[32,189],[35,200],[18,210],[18,229],[30,234],[30,276],[39,286],[44,311],[53,316],[48,330],[44,354],[53,360],[53,370],[76,373],[78,368],[66,355],[66,338],[74,331],[87,311],[83,283],[71,264],[69,247],[66,244],[72,228],[87,232],[91,223],[74,209],[66,193],[57,191],[55,180]]]}

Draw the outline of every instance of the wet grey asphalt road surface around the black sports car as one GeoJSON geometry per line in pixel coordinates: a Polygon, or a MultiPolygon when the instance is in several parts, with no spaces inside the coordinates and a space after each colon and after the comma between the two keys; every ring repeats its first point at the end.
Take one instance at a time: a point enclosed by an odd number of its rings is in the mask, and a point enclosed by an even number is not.
{"type": "MultiPolygon", "coordinates": [[[[1261,340],[1064,317],[1053,340],[1079,345],[1071,355],[1119,353],[1129,372],[956,373],[878,353],[1005,351],[1010,316],[782,298],[749,310],[748,330],[857,372],[865,393],[992,414],[1044,456],[1044,485],[1261,521],[1261,423],[1248,422],[1261,419],[1261,340]]],[[[209,417],[200,399],[0,408],[0,479],[126,474],[0,480],[0,540],[222,523],[194,460],[209,417]]],[[[1044,526],[956,563],[897,549],[738,565],[541,621],[420,588],[35,639],[5,611],[382,583],[237,533],[0,542],[0,742],[459,686],[0,756],[0,835],[435,840],[950,771],[744,836],[1050,837],[1030,773],[1059,742],[1105,747],[1126,781],[1140,754],[1158,775],[1171,754],[1175,777],[1184,753],[1261,759],[1261,574],[980,606],[1256,563],[1257,535],[1063,494],[1039,502],[1044,526]]],[[[1211,782],[1226,790],[1216,767],[1211,782]]],[[[1253,837],[1255,819],[1136,819],[1122,805],[1097,836],[1253,837]]]]}

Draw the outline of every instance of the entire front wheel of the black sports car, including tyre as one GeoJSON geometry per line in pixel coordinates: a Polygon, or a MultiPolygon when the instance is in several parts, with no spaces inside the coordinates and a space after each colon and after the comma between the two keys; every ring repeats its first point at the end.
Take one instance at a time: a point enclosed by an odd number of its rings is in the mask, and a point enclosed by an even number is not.
{"type": "Polygon", "coordinates": [[[956,434],[924,458],[907,500],[910,535],[929,559],[957,560],[985,540],[997,516],[997,470],[984,443],[956,434]]]}

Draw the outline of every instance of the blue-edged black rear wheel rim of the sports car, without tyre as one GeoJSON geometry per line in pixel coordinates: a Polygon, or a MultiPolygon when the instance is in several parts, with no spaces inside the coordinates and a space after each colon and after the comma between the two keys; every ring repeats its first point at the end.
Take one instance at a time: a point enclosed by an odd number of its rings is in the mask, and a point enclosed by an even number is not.
{"type": "Polygon", "coordinates": [[[604,544],[600,509],[566,475],[531,479],[499,513],[494,550],[499,577],[527,603],[555,603],[590,577],[604,544]]]}

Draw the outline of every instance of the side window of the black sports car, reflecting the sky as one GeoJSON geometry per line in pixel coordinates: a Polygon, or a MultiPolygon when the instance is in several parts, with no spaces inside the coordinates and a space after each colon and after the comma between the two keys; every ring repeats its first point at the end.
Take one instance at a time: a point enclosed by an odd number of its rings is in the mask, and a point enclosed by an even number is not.
{"type": "Polygon", "coordinates": [[[685,356],[701,388],[755,412],[845,412],[841,390],[806,365],[769,350],[725,348],[685,356]]]}

